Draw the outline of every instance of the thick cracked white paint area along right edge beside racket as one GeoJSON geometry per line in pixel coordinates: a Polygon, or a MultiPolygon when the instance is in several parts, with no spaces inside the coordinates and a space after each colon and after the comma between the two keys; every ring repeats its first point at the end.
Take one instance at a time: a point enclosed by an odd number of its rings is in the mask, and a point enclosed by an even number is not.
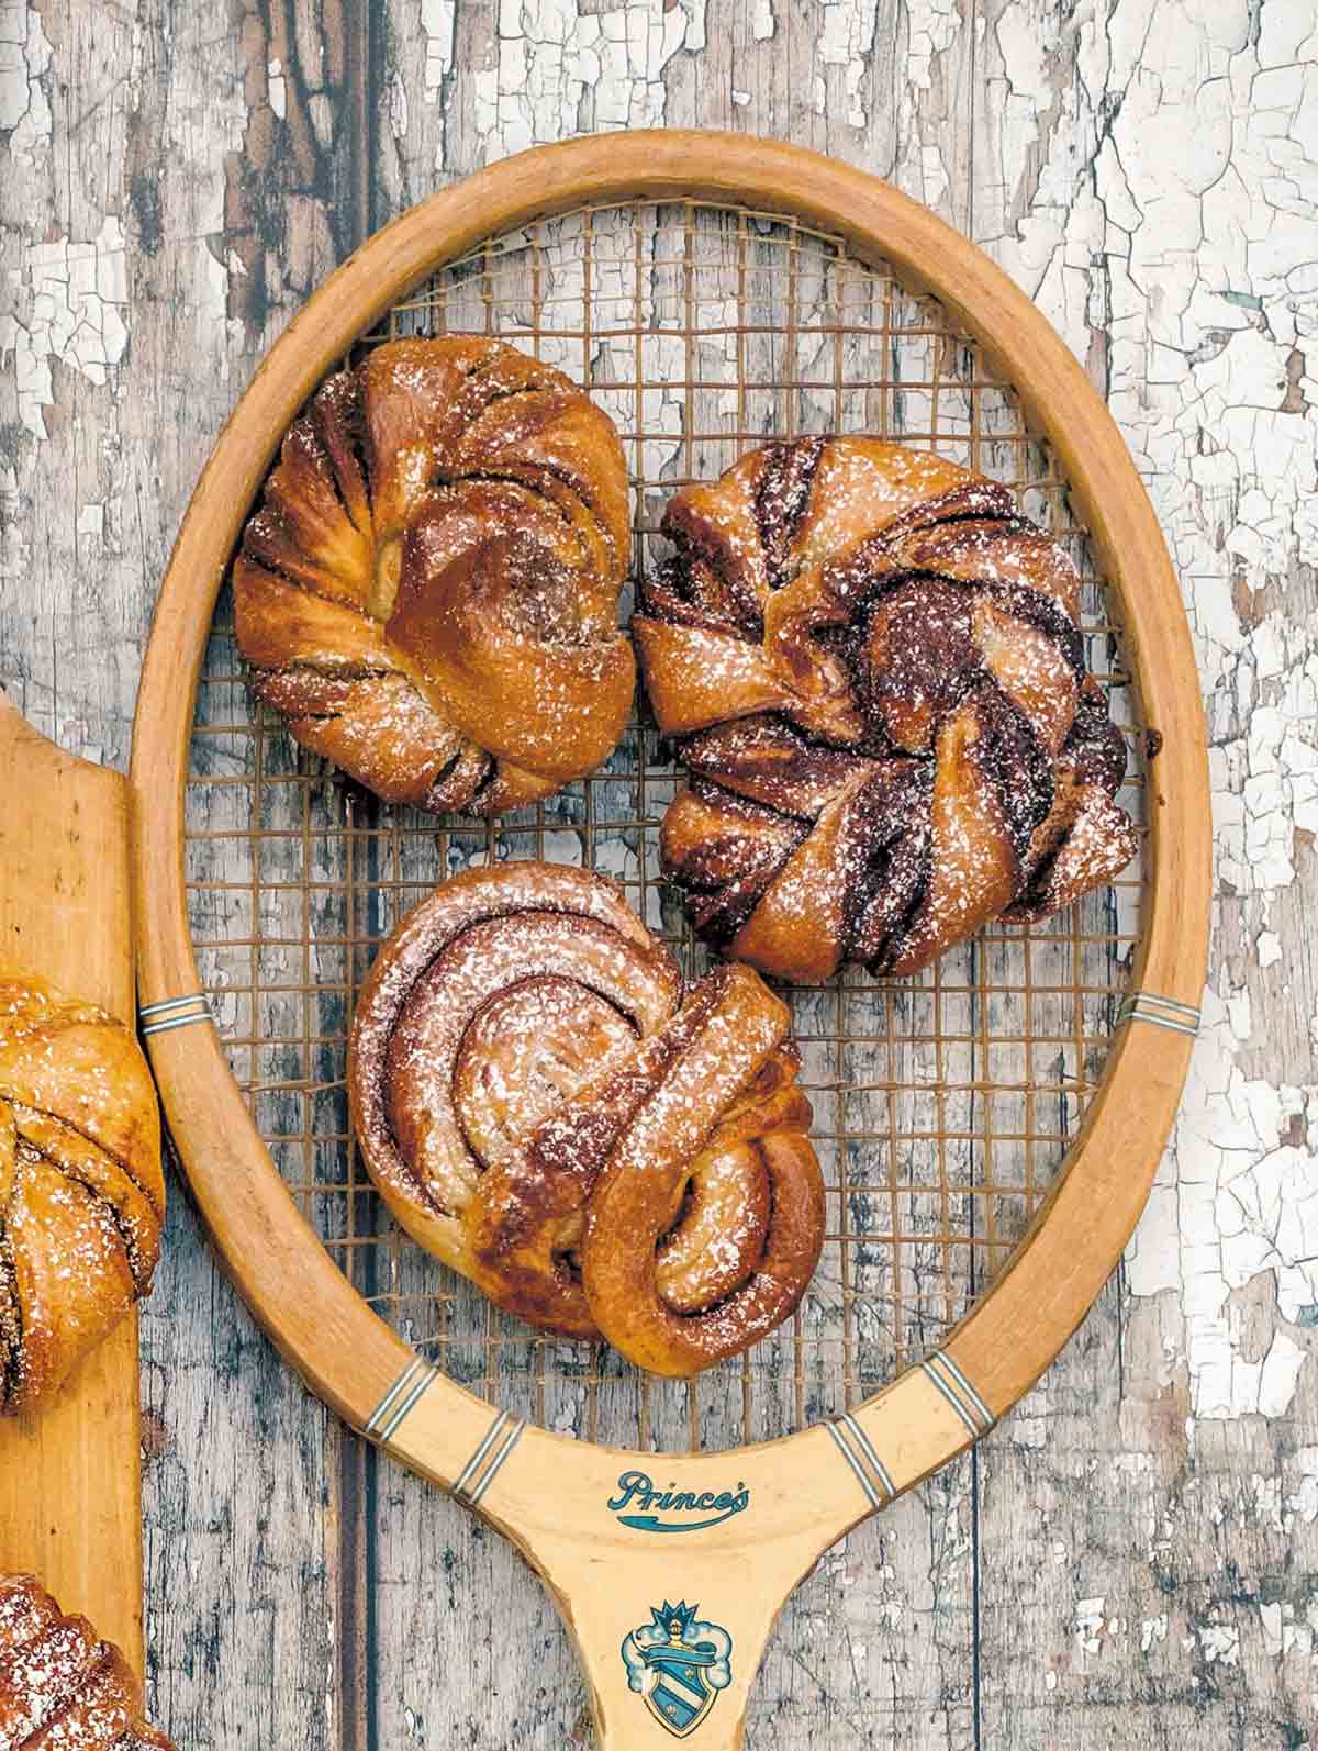
{"type": "Polygon", "coordinates": [[[1318,1082],[1311,1063],[1293,1080],[1260,1075],[1250,1047],[1265,1056],[1264,1003],[1286,977],[1318,833],[1313,625],[1271,606],[1318,564],[1318,30],[1307,7],[1246,0],[1176,14],[1152,28],[1145,0],[1082,11],[1080,79],[1059,88],[1034,11],[1003,9],[1019,116],[1006,170],[1033,177],[1034,198],[991,247],[1090,368],[1099,336],[1110,406],[1183,580],[1209,716],[1213,972],[1129,1285],[1178,1296],[1195,1415],[1279,1415],[1306,1366],[1297,1333],[1318,1317],[1318,1082]],[[1090,163],[1031,163],[1057,114],[1097,95],[1090,163]],[[1253,1359],[1229,1301],[1260,1273],[1293,1331],[1253,1359]]]}

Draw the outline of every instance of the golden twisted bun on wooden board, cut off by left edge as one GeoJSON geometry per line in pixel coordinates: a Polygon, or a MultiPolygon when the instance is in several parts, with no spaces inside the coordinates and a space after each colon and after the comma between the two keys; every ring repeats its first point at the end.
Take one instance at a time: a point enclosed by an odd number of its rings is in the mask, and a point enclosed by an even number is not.
{"type": "Polygon", "coordinates": [[[145,1296],[163,1217],[137,1040],[95,1003],[0,967],[0,1410],[54,1392],[145,1296]]]}

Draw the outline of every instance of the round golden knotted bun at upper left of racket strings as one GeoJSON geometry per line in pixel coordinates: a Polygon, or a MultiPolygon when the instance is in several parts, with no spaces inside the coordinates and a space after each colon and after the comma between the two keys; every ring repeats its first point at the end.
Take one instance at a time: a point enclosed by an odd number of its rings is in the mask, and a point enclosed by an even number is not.
{"type": "Polygon", "coordinates": [[[618,432],[562,371],[401,340],[284,440],[233,571],[256,690],[387,802],[495,814],[618,744],[635,667],[618,432]]]}

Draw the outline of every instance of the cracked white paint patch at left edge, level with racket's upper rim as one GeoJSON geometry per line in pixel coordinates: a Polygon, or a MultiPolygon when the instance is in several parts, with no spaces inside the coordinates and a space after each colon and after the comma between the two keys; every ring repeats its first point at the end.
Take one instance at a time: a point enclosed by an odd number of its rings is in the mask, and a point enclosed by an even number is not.
{"type": "Polygon", "coordinates": [[[103,385],[128,347],[124,233],[109,214],[91,242],[67,236],[28,243],[11,275],[14,308],[0,319],[0,359],[14,368],[18,408],[33,438],[46,438],[42,408],[54,403],[51,362],[58,359],[103,385]]]}

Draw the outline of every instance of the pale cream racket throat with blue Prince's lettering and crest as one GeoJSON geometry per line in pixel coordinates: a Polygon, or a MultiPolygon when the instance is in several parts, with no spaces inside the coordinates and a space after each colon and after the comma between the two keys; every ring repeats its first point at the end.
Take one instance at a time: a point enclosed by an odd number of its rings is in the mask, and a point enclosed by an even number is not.
{"type": "Polygon", "coordinates": [[[413,1364],[371,1418],[390,1452],[509,1537],[581,1658],[604,1751],[735,1751],[791,1590],[844,1532],[966,1445],[912,1369],[866,1411],[728,1453],[565,1441],[413,1364]],[[910,1415],[908,1415],[910,1413],[910,1415]],[[879,1457],[882,1452],[894,1469],[879,1457]]]}

